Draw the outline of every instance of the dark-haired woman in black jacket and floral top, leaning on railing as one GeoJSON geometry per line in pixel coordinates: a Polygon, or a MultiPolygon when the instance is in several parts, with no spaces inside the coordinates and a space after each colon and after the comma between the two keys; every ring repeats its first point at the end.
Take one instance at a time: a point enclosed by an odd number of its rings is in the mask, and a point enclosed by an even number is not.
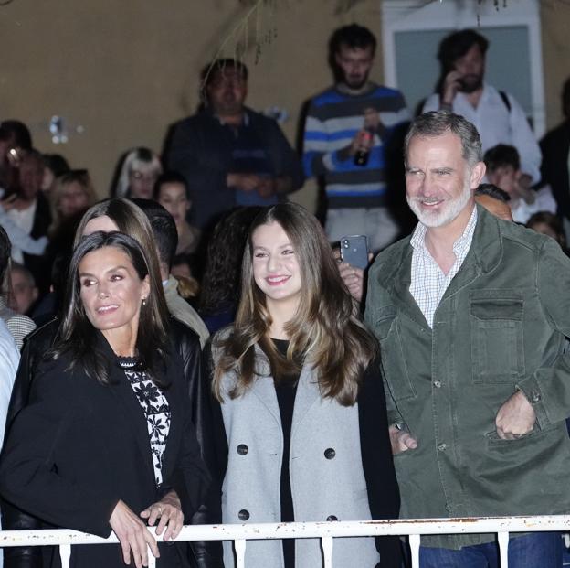
{"type": "Polygon", "coordinates": [[[121,542],[75,546],[72,566],[185,565],[174,538],[208,480],[168,335],[160,275],[142,246],[96,231],[69,265],[66,310],[11,425],[0,490],[53,525],[121,542]],[[160,552],[159,552],[160,551],[160,552]]]}

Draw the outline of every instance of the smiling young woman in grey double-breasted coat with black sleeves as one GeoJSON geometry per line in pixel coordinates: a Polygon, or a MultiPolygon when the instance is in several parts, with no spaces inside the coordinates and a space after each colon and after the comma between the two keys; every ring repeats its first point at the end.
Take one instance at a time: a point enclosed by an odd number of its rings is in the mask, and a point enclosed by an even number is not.
{"type": "MultiPolygon", "coordinates": [[[[248,234],[235,323],[212,345],[227,440],[224,522],[397,517],[375,354],[318,221],[291,203],[262,210],[248,234]]],[[[376,545],[338,539],[333,565],[399,566],[397,540],[376,545]]],[[[229,544],[225,563],[233,565],[229,544]]],[[[251,542],[246,563],[316,568],[320,542],[251,542]]]]}

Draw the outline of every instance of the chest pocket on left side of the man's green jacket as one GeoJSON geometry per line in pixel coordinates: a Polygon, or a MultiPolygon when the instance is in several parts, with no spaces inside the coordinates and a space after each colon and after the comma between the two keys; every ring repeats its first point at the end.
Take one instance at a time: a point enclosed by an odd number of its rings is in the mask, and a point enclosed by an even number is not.
{"type": "Polygon", "coordinates": [[[380,342],[382,370],[395,402],[416,396],[409,379],[406,358],[395,314],[380,316],[375,323],[375,336],[380,342]]]}

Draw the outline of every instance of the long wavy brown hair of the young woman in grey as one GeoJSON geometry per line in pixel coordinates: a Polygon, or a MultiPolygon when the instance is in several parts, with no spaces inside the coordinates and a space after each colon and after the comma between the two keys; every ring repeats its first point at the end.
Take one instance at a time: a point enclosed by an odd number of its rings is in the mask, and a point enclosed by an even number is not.
{"type": "Polygon", "coordinates": [[[233,330],[215,341],[219,348],[213,389],[222,401],[221,381],[226,373],[236,377],[231,398],[243,395],[257,380],[255,346],[266,353],[274,378],[297,369],[303,359],[316,371],[322,396],[344,406],[356,402],[364,370],[375,357],[375,338],[356,317],[356,306],[343,284],[332,249],[318,220],[294,203],[263,209],[253,220],[243,253],[242,295],[233,330]],[[260,226],[277,222],[290,238],[301,271],[301,301],[286,325],[290,338],[287,357],[269,338],[271,316],[265,295],[253,277],[251,236],[260,226]]]}

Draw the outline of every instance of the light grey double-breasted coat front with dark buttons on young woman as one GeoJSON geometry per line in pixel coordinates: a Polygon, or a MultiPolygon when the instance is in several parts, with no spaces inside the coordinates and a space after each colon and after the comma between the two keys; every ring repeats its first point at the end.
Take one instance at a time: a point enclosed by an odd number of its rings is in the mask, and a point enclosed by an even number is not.
{"type": "MultiPolygon", "coordinates": [[[[235,376],[222,380],[221,404],[227,435],[227,472],[222,486],[224,523],[280,522],[283,433],[269,361],[259,347],[261,375],[243,396],[230,399],[235,376]]],[[[214,359],[216,355],[213,353],[214,359]]],[[[290,487],[295,520],[370,520],[362,466],[358,407],[322,398],[315,374],[301,370],[290,439],[290,487]],[[333,452],[331,451],[333,450],[333,452]]],[[[224,543],[226,568],[234,566],[231,542],[224,543]]],[[[379,555],[372,538],[336,539],[335,568],[373,568],[379,555]]],[[[248,541],[248,568],[282,568],[281,541],[248,541]]],[[[295,543],[296,568],[322,566],[320,540],[295,543]]]]}

